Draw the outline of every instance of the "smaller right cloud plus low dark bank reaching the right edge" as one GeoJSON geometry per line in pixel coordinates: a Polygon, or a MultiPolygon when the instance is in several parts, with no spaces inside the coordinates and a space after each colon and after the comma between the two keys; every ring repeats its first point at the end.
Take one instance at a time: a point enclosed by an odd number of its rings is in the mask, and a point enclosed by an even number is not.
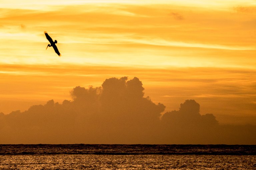
{"type": "Polygon", "coordinates": [[[178,111],[162,117],[161,137],[167,143],[254,144],[256,126],[219,125],[213,114],[200,115],[200,105],[186,100],[178,111]],[[200,141],[200,142],[199,142],[200,141]]]}

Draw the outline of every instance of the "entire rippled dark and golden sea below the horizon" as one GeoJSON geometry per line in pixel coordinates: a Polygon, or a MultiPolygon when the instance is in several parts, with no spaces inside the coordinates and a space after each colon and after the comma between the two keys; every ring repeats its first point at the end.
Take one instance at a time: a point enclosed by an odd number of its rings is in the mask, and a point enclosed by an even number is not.
{"type": "Polygon", "coordinates": [[[256,145],[0,145],[0,169],[256,169],[256,145]]]}

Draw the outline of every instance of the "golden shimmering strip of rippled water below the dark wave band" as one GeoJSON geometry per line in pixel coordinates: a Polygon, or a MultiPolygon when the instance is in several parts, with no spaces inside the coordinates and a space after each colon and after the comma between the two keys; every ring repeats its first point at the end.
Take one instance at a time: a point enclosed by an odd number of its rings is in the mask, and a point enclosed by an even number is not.
{"type": "Polygon", "coordinates": [[[0,169],[256,169],[255,155],[0,155],[0,169]]]}

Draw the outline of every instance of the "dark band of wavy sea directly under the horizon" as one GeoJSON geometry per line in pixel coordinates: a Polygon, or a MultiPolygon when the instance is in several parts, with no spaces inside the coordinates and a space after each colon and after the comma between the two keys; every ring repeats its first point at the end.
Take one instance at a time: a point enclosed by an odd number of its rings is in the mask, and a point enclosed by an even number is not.
{"type": "Polygon", "coordinates": [[[256,155],[256,145],[2,144],[0,155],[256,155]]]}

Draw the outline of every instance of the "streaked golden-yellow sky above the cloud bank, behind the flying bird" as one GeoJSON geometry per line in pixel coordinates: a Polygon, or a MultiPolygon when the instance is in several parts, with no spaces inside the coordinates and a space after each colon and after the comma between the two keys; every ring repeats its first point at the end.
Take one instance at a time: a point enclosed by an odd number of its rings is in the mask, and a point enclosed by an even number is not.
{"type": "Polygon", "coordinates": [[[0,112],[128,76],[166,111],[194,99],[220,123],[256,122],[255,0],[0,4],[0,112]],[[61,57],[45,50],[44,31],[61,57]]]}

